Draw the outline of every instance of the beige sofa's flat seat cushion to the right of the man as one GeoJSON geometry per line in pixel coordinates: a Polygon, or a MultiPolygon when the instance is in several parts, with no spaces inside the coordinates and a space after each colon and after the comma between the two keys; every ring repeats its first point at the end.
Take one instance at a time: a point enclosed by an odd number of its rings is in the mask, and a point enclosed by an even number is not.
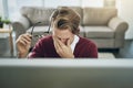
{"type": "Polygon", "coordinates": [[[84,26],[86,37],[114,38],[114,31],[108,26],[84,26]]]}

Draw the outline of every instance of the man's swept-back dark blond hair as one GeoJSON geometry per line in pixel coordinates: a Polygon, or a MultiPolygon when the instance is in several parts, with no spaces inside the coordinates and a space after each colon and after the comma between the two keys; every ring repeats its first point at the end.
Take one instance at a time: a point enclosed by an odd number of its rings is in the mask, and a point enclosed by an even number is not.
{"type": "Polygon", "coordinates": [[[51,21],[60,30],[70,28],[73,34],[79,34],[80,15],[68,7],[58,8],[52,13],[51,21]]]}

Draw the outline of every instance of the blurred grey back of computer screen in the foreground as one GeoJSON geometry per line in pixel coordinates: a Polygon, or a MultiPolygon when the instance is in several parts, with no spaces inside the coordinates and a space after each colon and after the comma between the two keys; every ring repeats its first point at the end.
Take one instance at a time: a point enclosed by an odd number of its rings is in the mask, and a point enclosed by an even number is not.
{"type": "Polygon", "coordinates": [[[133,88],[133,61],[0,59],[0,88],[133,88]]]}

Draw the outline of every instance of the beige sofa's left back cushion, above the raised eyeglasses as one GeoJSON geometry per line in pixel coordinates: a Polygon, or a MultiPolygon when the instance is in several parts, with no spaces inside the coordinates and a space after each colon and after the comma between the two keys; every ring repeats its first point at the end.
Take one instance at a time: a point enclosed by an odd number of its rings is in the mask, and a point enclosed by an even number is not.
{"type": "Polygon", "coordinates": [[[42,22],[41,24],[48,25],[50,22],[50,15],[54,11],[52,8],[39,8],[39,7],[23,7],[21,8],[21,14],[28,18],[31,24],[42,22]]]}

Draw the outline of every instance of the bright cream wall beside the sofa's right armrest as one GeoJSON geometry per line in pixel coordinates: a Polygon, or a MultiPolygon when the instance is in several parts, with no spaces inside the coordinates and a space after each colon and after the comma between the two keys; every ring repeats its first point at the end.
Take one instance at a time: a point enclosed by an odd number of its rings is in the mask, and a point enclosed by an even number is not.
{"type": "Polygon", "coordinates": [[[133,40],[133,0],[116,0],[116,6],[119,15],[130,24],[125,38],[133,40]]]}

